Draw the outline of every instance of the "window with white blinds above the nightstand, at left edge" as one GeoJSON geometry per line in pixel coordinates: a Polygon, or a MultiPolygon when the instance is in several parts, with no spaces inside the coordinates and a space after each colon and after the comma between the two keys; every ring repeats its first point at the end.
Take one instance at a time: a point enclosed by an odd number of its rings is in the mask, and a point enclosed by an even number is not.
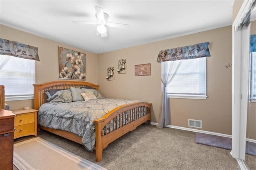
{"type": "Polygon", "coordinates": [[[35,60],[0,55],[0,85],[5,100],[34,99],[35,60]]]}

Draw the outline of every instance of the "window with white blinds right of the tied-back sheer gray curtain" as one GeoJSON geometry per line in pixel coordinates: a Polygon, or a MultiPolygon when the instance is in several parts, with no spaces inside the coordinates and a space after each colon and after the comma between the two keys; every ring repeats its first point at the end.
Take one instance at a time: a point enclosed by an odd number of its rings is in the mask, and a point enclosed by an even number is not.
{"type": "Polygon", "coordinates": [[[182,60],[167,93],[170,98],[206,99],[206,57],[182,60]]]}

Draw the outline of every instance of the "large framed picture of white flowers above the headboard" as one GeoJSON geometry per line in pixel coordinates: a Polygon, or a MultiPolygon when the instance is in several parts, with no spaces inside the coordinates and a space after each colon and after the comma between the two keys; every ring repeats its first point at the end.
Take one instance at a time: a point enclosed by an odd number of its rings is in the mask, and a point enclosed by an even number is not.
{"type": "Polygon", "coordinates": [[[85,80],[86,54],[59,47],[59,79],[85,80]]]}

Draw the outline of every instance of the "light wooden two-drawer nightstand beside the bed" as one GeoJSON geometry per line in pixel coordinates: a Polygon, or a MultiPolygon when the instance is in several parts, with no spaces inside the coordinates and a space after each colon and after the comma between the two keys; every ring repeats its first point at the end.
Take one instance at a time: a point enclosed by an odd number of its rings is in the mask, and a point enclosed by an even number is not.
{"type": "Polygon", "coordinates": [[[14,139],[22,136],[37,136],[37,112],[35,109],[12,111],[17,117],[14,118],[14,139]]]}

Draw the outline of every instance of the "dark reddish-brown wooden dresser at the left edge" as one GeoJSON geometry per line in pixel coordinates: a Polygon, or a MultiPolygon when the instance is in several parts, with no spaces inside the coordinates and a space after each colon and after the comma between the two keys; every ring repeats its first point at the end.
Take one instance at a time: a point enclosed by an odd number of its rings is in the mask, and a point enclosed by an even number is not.
{"type": "Polygon", "coordinates": [[[0,170],[13,169],[14,117],[12,111],[0,109],[0,170]]]}

